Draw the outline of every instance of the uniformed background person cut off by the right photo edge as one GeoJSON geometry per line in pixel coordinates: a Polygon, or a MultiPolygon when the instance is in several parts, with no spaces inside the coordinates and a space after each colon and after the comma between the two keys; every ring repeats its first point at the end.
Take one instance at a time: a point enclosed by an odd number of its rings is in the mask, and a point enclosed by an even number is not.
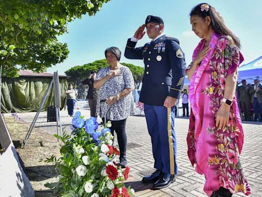
{"type": "Polygon", "coordinates": [[[259,119],[259,122],[262,122],[262,86],[259,84],[259,80],[254,80],[254,84],[249,90],[255,114],[254,121],[256,122],[259,119]],[[258,111],[260,117],[258,116],[258,111]]]}

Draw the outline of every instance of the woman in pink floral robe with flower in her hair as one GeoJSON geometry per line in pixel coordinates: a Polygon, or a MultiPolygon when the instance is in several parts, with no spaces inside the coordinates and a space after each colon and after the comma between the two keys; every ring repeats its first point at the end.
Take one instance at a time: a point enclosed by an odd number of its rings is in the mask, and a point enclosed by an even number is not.
{"type": "Polygon", "coordinates": [[[237,67],[244,60],[239,39],[208,4],[192,9],[190,23],[202,40],[186,71],[191,105],[189,159],[205,175],[204,191],[209,196],[249,195],[239,159],[244,142],[235,95],[237,67]]]}

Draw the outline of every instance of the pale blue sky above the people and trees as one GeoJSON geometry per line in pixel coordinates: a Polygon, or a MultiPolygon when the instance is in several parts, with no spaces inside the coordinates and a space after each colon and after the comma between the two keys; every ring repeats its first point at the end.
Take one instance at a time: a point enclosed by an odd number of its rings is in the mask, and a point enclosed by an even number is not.
{"type": "MultiPolygon", "coordinates": [[[[160,16],[165,23],[165,34],[176,37],[185,52],[186,62],[191,62],[194,48],[200,38],[193,34],[189,12],[198,0],[112,0],[102,6],[95,16],[83,15],[69,24],[69,33],[59,36],[59,41],[68,43],[69,56],[61,64],[48,69],[64,74],[71,67],[91,63],[104,58],[107,47],[116,46],[122,51],[120,62],[143,66],[141,60],[124,57],[127,38],[145,22],[147,15],[160,16]]],[[[261,0],[213,0],[206,3],[215,7],[227,26],[240,38],[242,53],[247,64],[262,55],[262,1],[261,0]]],[[[145,36],[137,46],[149,42],[145,36]]]]}

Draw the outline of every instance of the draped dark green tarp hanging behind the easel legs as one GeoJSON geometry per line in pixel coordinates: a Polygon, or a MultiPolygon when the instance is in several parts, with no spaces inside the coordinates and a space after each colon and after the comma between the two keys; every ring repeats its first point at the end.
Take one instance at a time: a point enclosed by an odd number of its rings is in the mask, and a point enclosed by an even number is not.
{"type": "MultiPolygon", "coordinates": [[[[51,81],[52,77],[3,77],[2,113],[38,111],[51,81]]],[[[59,82],[62,109],[66,102],[67,81],[65,78],[59,78],[59,82]]],[[[42,111],[46,111],[48,106],[54,105],[54,101],[54,86],[52,86],[42,111]]]]}

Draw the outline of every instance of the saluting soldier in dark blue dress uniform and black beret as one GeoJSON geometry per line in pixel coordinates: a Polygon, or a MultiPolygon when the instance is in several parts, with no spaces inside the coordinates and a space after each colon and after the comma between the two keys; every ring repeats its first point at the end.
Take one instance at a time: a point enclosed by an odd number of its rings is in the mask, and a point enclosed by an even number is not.
{"type": "Polygon", "coordinates": [[[164,34],[164,22],[149,15],[125,48],[125,57],[144,60],[145,71],[139,101],[144,103],[147,129],[151,136],[156,171],[142,180],[155,183],[154,189],[169,186],[178,174],[177,142],[174,132],[174,105],[181,97],[185,77],[185,57],[179,41],[164,34]],[[145,32],[152,39],[135,48],[145,32]]]}

